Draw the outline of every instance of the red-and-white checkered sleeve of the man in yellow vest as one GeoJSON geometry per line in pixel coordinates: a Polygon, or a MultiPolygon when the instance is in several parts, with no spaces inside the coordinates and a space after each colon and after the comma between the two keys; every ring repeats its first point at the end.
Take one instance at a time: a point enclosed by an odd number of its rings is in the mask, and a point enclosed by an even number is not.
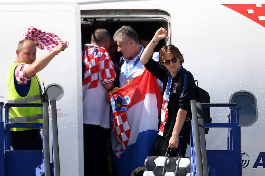
{"type": "Polygon", "coordinates": [[[18,64],[16,66],[14,76],[15,76],[16,82],[20,85],[27,84],[29,82],[29,80],[35,76],[35,75],[33,75],[32,77],[29,77],[29,78],[26,77],[25,70],[28,66],[29,66],[29,64],[18,64]]]}

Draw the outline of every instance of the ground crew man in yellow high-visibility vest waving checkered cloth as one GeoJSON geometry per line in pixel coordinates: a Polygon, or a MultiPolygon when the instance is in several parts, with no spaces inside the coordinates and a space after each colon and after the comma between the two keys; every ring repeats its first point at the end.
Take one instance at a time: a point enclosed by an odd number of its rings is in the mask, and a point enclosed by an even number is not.
{"type": "MultiPolygon", "coordinates": [[[[36,44],[29,39],[19,42],[16,60],[11,62],[7,73],[8,103],[41,103],[41,84],[36,75],[49,62],[66,49],[60,42],[51,52],[36,60],[36,44]],[[36,60],[36,61],[35,61],[36,60]]],[[[12,107],[9,109],[9,123],[42,123],[41,107],[12,107]]],[[[14,150],[42,150],[39,128],[11,128],[11,146],[14,150]]]]}

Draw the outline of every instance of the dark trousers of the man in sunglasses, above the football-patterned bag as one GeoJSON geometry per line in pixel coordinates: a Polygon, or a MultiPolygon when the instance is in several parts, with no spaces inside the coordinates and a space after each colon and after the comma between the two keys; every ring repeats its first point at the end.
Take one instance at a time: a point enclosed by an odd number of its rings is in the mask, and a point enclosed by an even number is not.
{"type": "MultiPolygon", "coordinates": [[[[151,152],[152,156],[165,156],[165,152],[167,151],[168,145],[169,143],[167,141],[164,141],[162,136],[157,135],[155,144],[153,145],[151,152]]],[[[187,145],[188,143],[179,141],[182,157],[185,157],[187,145]]],[[[170,156],[178,156],[178,153],[178,149],[170,150],[170,156]]]]}

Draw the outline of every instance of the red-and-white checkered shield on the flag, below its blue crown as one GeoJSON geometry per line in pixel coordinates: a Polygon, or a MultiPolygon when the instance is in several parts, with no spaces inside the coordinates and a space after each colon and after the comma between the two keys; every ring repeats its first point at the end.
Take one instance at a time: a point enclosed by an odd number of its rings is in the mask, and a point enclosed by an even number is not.
{"type": "Polygon", "coordinates": [[[126,111],[113,112],[113,119],[111,119],[111,127],[119,143],[115,148],[115,155],[122,157],[123,152],[128,146],[131,127],[127,120],[126,111]]]}

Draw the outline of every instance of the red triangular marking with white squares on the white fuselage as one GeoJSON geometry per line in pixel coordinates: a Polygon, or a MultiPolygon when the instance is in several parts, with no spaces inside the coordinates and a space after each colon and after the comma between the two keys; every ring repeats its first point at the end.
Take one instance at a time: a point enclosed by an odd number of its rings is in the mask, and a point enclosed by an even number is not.
{"type": "Polygon", "coordinates": [[[265,4],[223,4],[265,27],[265,4]]]}

